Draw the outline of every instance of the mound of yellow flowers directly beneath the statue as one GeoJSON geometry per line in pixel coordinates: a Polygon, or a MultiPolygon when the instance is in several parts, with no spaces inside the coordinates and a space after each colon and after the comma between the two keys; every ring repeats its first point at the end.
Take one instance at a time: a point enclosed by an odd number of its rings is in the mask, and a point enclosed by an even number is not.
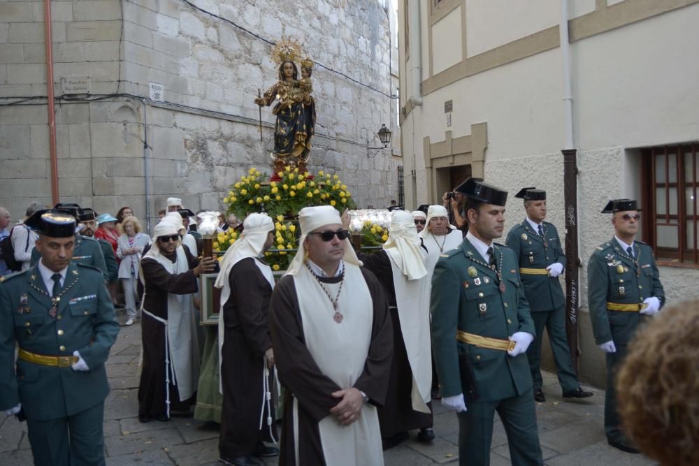
{"type": "Polygon", "coordinates": [[[250,212],[266,212],[271,217],[294,217],[308,205],[332,205],[343,212],[356,204],[336,174],[319,171],[300,173],[298,168],[284,167],[277,173],[280,180],[267,182],[266,175],[257,168],[250,168],[247,176],[233,183],[228,196],[223,198],[229,214],[243,218],[250,212]]]}

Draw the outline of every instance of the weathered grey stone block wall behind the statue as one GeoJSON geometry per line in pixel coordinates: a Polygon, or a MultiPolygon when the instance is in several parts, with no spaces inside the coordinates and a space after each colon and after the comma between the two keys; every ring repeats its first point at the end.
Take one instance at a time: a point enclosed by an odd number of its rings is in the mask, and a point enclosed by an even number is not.
{"type": "MultiPolygon", "coordinates": [[[[282,35],[339,72],[314,69],[310,168],[340,173],[360,205],[397,196],[391,151],[366,152],[394,108],[379,1],[193,3],[201,10],[181,0],[51,2],[57,96],[60,79],[78,75],[102,94],[57,104],[61,201],[113,213],[131,205],[145,217],[147,194],[151,219],[167,196],[222,207],[219,193],[247,168],[269,170],[274,119],[263,108],[261,143],[253,99],[278,76],[264,40],[282,35]],[[164,85],[166,103],[143,103],[149,82],[164,85]]],[[[0,3],[0,96],[46,95],[43,27],[43,2],[0,3]]],[[[46,120],[45,99],[0,107],[0,205],[14,218],[29,201],[50,202],[46,120]]]]}

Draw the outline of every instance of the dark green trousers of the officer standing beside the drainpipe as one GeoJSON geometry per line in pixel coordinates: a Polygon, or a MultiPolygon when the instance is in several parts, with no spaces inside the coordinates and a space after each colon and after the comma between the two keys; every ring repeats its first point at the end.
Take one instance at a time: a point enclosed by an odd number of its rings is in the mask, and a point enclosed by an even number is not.
{"type": "Polygon", "coordinates": [[[565,334],[565,306],[553,311],[533,311],[531,318],[534,321],[536,335],[526,351],[529,361],[531,379],[534,390],[541,390],[541,342],[544,336],[544,328],[549,333],[551,351],[556,363],[556,374],[559,376],[559,384],[563,392],[575,390],[580,386],[575,370],[572,369],[568,336],[565,334]]]}

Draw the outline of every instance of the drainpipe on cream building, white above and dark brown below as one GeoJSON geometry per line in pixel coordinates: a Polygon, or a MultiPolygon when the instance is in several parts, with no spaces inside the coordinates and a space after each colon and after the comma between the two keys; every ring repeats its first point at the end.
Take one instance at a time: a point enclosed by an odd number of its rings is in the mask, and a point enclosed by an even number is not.
{"type": "Polygon", "coordinates": [[[579,276],[581,261],[578,256],[577,229],[577,149],[572,131],[572,78],[570,76],[570,36],[568,35],[568,0],[561,0],[559,24],[561,66],[563,68],[563,112],[565,118],[565,146],[563,154],[563,185],[565,204],[565,333],[568,335],[570,358],[575,372],[579,372],[580,354],[577,328],[579,308],[579,276]]]}

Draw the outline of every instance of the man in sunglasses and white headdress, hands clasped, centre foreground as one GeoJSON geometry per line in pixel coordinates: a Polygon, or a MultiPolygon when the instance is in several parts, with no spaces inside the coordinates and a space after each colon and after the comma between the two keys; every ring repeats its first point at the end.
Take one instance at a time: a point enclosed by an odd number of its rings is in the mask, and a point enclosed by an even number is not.
{"type": "Polygon", "coordinates": [[[279,464],[383,465],[376,409],[391,365],[386,298],[334,207],[304,207],[298,219],[298,252],[269,312],[286,388],[279,464]]]}

